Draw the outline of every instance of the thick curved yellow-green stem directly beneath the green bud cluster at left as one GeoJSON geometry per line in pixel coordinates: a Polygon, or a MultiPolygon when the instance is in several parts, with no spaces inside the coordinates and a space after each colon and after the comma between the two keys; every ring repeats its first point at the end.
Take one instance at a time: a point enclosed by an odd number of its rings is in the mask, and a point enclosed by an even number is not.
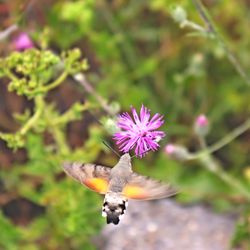
{"type": "Polygon", "coordinates": [[[36,111],[35,111],[34,115],[20,129],[19,133],[21,135],[25,135],[34,126],[34,124],[40,118],[40,116],[44,110],[44,100],[43,100],[43,97],[40,95],[35,97],[35,108],[36,108],[36,111]]]}

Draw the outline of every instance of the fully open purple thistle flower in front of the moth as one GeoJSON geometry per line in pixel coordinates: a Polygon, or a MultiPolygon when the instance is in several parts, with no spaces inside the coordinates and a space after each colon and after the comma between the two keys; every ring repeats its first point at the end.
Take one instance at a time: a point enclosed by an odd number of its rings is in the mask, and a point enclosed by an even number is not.
{"type": "Polygon", "coordinates": [[[114,140],[120,151],[127,153],[135,150],[136,156],[143,157],[150,150],[157,150],[158,142],[165,136],[163,131],[156,131],[163,123],[163,116],[155,114],[150,119],[150,110],[142,105],[140,115],[131,107],[132,115],[123,113],[118,117],[117,125],[121,131],[114,134],[114,140]]]}

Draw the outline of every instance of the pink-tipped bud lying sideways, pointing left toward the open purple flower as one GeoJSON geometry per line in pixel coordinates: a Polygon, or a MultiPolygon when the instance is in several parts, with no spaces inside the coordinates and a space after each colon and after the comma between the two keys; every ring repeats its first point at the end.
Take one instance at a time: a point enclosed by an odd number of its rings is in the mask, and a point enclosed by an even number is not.
{"type": "Polygon", "coordinates": [[[191,154],[188,150],[179,145],[167,144],[165,146],[165,153],[174,160],[177,161],[186,161],[191,159],[191,154]]]}

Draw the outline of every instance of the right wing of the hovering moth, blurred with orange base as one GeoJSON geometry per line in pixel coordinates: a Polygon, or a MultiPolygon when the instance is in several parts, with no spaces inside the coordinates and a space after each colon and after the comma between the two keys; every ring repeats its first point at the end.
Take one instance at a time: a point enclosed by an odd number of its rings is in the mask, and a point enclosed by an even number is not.
{"type": "Polygon", "coordinates": [[[132,174],[129,183],[123,189],[123,194],[127,198],[136,200],[161,199],[176,193],[176,189],[169,184],[136,173],[132,174]]]}

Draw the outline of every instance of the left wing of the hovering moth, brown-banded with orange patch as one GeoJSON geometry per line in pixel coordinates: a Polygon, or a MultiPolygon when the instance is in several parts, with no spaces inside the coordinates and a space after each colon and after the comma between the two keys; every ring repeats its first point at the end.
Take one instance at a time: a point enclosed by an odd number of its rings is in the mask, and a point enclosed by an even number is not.
{"type": "Polygon", "coordinates": [[[82,163],[64,163],[64,171],[91,190],[105,194],[108,189],[111,168],[82,163]]]}

